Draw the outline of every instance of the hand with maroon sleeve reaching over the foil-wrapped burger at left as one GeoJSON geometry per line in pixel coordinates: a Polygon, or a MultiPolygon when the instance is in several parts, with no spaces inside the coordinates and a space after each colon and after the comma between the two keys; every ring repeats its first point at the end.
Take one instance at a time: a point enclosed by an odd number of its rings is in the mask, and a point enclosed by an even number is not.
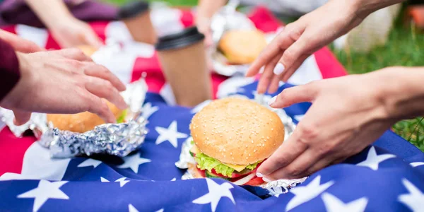
{"type": "Polygon", "coordinates": [[[31,112],[93,112],[116,122],[105,98],[124,109],[119,91],[124,84],[104,66],[95,64],[79,49],[32,54],[17,53],[20,80],[0,106],[13,110],[16,124],[25,124],[31,112]]]}

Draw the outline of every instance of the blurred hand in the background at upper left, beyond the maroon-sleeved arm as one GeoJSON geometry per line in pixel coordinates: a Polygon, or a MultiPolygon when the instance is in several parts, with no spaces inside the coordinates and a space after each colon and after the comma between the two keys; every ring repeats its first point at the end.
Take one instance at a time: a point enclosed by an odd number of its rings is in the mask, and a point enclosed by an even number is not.
{"type": "Polygon", "coordinates": [[[76,18],[64,18],[64,21],[54,22],[49,26],[52,35],[62,48],[88,45],[98,48],[102,41],[90,25],[76,18]]]}

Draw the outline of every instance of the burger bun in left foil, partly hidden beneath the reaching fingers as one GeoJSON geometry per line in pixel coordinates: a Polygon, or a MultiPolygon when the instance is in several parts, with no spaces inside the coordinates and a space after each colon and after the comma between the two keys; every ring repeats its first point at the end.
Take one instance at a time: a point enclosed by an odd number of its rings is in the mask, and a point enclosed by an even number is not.
{"type": "MultiPolygon", "coordinates": [[[[118,119],[122,115],[122,110],[111,102],[106,101],[106,103],[114,114],[114,117],[118,119]]],[[[93,130],[95,126],[105,124],[102,118],[91,112],[81,112],[78,114],[47,114],[47,122],[52,122],[53,126],[60,130],[78,133],[90,131],[93,130]]]]}

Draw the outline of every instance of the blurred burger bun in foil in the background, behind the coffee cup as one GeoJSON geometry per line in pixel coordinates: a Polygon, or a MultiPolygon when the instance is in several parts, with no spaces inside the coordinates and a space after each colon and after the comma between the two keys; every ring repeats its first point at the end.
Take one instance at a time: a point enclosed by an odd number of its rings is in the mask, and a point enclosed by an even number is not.
{"type": "Polygon", "coordinates": [[[266,37],[259,30],[231,30],[223,35],[218,47],[230,64],[250,64],[266,45],[266,37]]]}

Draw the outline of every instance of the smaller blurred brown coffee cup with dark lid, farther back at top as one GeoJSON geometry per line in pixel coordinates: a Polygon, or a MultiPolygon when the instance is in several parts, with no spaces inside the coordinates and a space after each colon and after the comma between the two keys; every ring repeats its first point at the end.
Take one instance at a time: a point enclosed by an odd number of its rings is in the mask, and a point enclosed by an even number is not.
{"type": "Polygon", "coordinates": [[[133,39],[154,45],[157,41],[155,28],[151,22],[150,7],[147,2],[134,1],[119,8],[118,18],[122,20],[133,39]]]}

